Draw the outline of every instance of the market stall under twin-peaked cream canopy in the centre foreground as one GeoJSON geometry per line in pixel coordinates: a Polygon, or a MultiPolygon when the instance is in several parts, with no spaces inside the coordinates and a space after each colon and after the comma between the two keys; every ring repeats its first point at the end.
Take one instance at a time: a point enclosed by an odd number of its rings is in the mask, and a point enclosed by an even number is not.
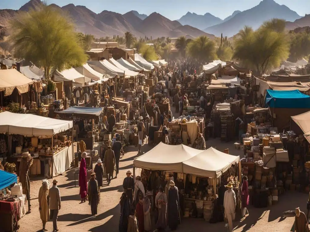
{"type": "MultiPolygon", "coordinates": [[[[196,204],[196,216],[210,220],[222,177],[225,177],[225,182],[234,183],[237,208],[241,209],[239,157],[220,152],[215,148],[201,151],[183,144],[171,146],[160,143],[151,151],[135,158],[134,174],[135,168],[142,169],[142,183],[148,184],[151,181],[152,188],[156,184],[152,183],[154,173],[158,174],[162,186],[173,179],[182,196],[180,202],[183,204],[181,203],[180,207],[183,209],[184,217],[194,216],[193,204],[196,204]],[[171,156],[167,156],[167,153],[171,156]]],[[[157,191],[157,189],[152,190],[157,191]]]]}

